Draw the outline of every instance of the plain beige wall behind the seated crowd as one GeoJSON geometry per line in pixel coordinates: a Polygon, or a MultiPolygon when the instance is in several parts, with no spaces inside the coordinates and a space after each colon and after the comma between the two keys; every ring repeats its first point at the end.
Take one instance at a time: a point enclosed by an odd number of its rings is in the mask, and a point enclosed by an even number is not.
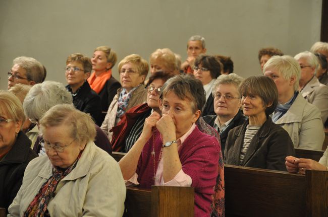
{"type": "MultiPolygon", "coordinates": [[[[111,46],[120,61],[138,53],[148,59],[168,47],[186,58],[186,41],[200,34],[208,54],[232,57],[235,73],[260,73],[259,48],[286,54],[308,50],[320,38],[321,0],[1,0],[0,89],[7,89],[12,60],[32,56],[48,71],[46,80],[66,84],[66,57],[92,55],[111,46]]],[[[114,67],[114,77],[118,77],[114,67]]]]}

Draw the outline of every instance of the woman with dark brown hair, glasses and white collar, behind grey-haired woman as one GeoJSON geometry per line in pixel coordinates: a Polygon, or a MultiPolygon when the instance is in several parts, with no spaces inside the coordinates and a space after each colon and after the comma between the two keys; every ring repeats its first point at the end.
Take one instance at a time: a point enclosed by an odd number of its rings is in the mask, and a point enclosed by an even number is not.
{"type": "Polygon", "coordinates": [[[214,56],[199,55],[195,60],[194,76],[203,84],[206,92],[206,103],[202,116],[215,115],[212,88],[215,79],[221,75],[221,65],[214,56]]]}

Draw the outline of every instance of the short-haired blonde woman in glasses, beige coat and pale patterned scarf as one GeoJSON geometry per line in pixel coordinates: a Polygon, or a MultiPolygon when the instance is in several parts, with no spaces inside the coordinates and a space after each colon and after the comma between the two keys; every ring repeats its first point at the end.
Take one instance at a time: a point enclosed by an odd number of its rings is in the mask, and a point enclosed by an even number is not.
{"type": "Polygon", "coordinates": [[[149,70],[147,61],[137,54],[131,54],[121,60],[118,69],[122,88],[117,90],[100,127],[110,140],[113,134],[110,130],[118,124],[125,112],[147,100],[147,90],[143,85],[149,70]]]}

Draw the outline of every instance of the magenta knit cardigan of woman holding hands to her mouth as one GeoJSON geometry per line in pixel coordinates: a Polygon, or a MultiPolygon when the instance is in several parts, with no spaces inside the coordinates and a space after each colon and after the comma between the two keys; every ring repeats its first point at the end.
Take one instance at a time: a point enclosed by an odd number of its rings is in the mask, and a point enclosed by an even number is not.
{"type": "MultiPolygon", "coordinates": [[[[159,132],[155,131],[155,141],[152,137],[145,144],[139,158],[136,173],[142,188],[151,188],[154,184],[153,158],[151,152],[155,146],[155,165],[162,146],[159,132]]],[[[191,187],[195,188],[195,216],[209,216],[211,212],[213,187],[216,184],[220,146],[215,137],[202,133],[198,127],[182,143],[179,157],[182,170],[192,179],[191,187]]]]}

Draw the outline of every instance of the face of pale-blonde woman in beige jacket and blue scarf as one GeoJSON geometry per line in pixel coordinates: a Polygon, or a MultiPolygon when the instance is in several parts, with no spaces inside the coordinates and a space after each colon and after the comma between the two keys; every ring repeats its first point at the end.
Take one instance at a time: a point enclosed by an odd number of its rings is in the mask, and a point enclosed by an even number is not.
{"type": "Polygon", "coordinates": [[[295,77],[285,80],[280,71],[275,68],[266,68],[264,71],[264,76],[274,80],[278,89],[278,95],[284,95],[291,90],[294,90],[295,77]]]}

